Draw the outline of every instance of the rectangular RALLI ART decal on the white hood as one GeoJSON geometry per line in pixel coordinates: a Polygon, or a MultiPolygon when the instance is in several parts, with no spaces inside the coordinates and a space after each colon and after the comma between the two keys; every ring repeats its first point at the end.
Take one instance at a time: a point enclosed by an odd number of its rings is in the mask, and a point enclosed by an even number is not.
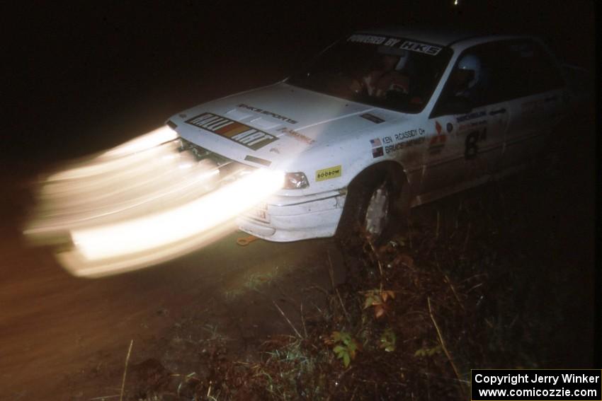
{"type": "Polygon", "coordinates": [[[186,123],[224,136],[254,151],[278,140],[276,136],[210,112],[192,117],[190,120],[186,120],[186,123]]]}

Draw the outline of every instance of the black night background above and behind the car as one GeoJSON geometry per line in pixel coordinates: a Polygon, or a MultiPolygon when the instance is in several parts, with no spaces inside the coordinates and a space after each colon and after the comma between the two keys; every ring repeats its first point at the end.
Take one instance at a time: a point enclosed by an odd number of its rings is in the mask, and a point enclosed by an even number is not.
{"type": "Polygon", "coordinates": [[[586,0],[72,2],[21,6],[9,23],[13,124],[0,157],[21,163],[101,149],[184,107],[282,79],[357,28],[534,33],[569,62],[594,61],[586,0]]]}

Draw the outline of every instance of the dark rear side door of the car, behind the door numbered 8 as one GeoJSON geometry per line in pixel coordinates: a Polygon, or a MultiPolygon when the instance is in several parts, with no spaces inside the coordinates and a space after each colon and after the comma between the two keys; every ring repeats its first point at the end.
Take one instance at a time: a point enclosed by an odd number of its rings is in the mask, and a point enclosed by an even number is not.
{"type": "Polygon", "coordinates": [[[560,118],[564,81],[554,59],[534,40],[506,42],[501,54],[511,98],[502,168],[512,170],[530,161],[549,140],[560,118]]]}

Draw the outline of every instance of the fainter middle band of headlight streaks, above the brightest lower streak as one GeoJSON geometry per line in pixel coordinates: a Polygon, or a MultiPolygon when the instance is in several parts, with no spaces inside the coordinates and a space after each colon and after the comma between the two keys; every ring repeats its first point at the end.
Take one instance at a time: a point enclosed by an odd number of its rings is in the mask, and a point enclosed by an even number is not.
{"type": "Polygon", "coordinates": [[[43,181],[36,213],[25,234],[43,243],[43,237],[56,231],[146,216],[197,199],[220,180],[215,164],[210,161],[192,164],[194,156],[178,153],[174,142],[124,158],[129,161],[127,167],[109,168],[106,164],[117,161],[94,159],[86,168],[94,165],[104,173],[43,181]],[[181,165],[188,168],[182,169],[181,165]]]}

